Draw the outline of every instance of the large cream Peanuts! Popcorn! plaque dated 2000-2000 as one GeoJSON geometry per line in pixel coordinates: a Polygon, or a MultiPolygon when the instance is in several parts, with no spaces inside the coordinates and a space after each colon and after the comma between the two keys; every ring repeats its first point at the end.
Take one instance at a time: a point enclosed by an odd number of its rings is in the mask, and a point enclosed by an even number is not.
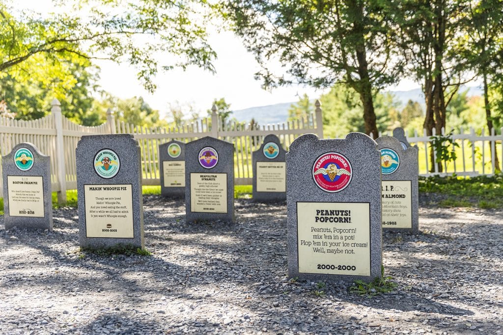
{"type": "Polygon", "coordinates": [[[297,202],[299,273],[370,276],[370,204],[297,202]]]}

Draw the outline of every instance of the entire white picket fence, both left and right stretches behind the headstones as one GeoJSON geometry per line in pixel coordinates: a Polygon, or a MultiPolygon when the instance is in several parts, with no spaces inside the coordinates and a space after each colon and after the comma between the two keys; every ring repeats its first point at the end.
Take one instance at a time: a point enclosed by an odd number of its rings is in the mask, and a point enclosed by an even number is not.
{"type": "MultiPolygon", "coordinates": [[[[258,150],[265,136],[277,135],[287,150],[290,144],[302,134],[314,133],[319,138],[323,138],[322,112],[318,101],[315,106],[315,111],[306,118],[277,125],[258,127],[237,122],[222,122],[216,113],[216,108],[213,108],[210,117],[183,127],[150,129],[116,122],[110,110],[107,111],[107,122],[103,125],[79,126],[62,115],[59,101],[54,99],[51,114],[39,120],[18,121],[0,118],[0,155],[7,155],[15,145],[22,142],[35,144],[43,154],[51,157],[52,189],[58,192],[58,200],[64,202],[65,191],[76,189],[75,148],[82,135],[132,134],[141,148],[144,185],[158,185],[160,182],[158,153],[160,144],[173,139],[187,143],[204,136],[212,136],[234,145],[235,183],[251,184],[253,177],[251,153],[258,150]]],[[[503,134],[503,128],[499,133],[503,134]]],[[[445,135],[444,130],[442,130],[442,135],[445,135]]],[[[494,129],[489,135],[485,135],[484,130],[479,134],[474,129],[470,129],[468,133],[461,130],[452,136],[452,140],[458,146],[451,144],[448,150],[456,153],[456,159],[448,163],[442,162],[439,167],[434,152],[433,164],[430,160],[432,140],[426,135],[426,131],[422,136],[415,132],[414,136],[408,137],[409,143],[416,145],[419,149],[420,175],[456,173],[460,176],[477,176],[493,175],[499,171],[496,161],[503,162],[503,135],[495,134],[494,129]]],[[[0,192],[2,192],[2,178],[0,178],[0,192]]]]}

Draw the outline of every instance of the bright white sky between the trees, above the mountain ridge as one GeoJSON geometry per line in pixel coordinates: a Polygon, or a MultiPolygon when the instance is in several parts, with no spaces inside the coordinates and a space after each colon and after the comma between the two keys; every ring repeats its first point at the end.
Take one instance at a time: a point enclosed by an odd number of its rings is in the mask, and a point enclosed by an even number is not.
{"type": "MultiPolygon", "coordinates": [[[[55,10],[51,0],[11,0],[18,9],[30,8],[36,12],[48,13],[55,10]]],[[[192,104],[204,113],[211,108],[214,98],[224,97],[234,110],[281,102],[297,101],[304,93],[316,98],[323,90],[312,87],[289,86],[275,88],[272,92],[261,88],[261,82],[254,79],[259,69],[253,55],[248,53],[240,40],[231,32],[210,33],[209,43],[216,51],[214,62],[216,74],[191,67],[187,71],[172,70],[159,72],[154,79],[157,90],[150,94],[136,79],[136,70],[128,64],[112,61],[96,61],[101,67],[99,85],[120,98],[142,96],[145,101],[165,116],[169,104],[192,104]]],[[[162,63],[162,62],[161,62],[162,63]]],[[[390,90],[408,90],[419,87],[411,80],[403,80],[390,90]]]]}

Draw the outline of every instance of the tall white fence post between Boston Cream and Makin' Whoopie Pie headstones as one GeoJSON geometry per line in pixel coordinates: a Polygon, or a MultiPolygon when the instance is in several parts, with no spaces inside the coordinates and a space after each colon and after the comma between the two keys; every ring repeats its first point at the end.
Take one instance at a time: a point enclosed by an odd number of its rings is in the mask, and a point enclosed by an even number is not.
{"type": "Polygon", "coordinates": [[[51,113],[54,117],[56,126],[56,175],[59,182],[58,203],[66,202],[66,168],[64,160],[64,144],[63,144],[63,115],[61,114],[61,103],[58,99],[52,99],[51,113]]]}

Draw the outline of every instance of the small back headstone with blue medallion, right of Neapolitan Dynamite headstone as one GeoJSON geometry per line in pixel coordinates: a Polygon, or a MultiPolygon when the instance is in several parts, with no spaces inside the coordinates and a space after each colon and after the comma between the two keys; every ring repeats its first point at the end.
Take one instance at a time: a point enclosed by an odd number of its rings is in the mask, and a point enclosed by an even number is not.
{"type": "Polygon", "coordinates": [[[266,136],[259,150],[253,152],[253,201],[286,200],[285,154],[276,135],[266,136]]]}

